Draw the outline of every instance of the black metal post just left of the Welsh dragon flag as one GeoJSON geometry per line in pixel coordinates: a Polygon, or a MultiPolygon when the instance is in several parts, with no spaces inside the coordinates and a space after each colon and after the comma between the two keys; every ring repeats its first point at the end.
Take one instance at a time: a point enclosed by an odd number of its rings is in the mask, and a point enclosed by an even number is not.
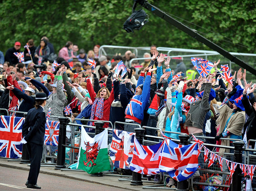
{"type": "Polygon", "coordinates": [[[66,122],[68,121],[67,117],[59,117],[60,121],[60,130],[58,132],[58,154],[57,154],[57,162],[55,165],[55,169],[66,168],[65,166],[65,152],[66,148],[62,145],[66,145],[66,122]]]}

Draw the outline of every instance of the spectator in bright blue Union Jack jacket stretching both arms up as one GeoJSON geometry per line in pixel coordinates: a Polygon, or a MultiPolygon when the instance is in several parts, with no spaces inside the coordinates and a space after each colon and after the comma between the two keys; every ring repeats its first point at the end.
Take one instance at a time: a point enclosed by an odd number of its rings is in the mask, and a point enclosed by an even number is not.
{"type": "Polygon", "coordinates": [[[155,70],[156,68],[152,69],[152,66],[146,67],[139,77],[135,95],[125,109],[125,122],[131,124],[125,124],[125,131],[134,132],[136,126],[134,126],[133,124],[141,124],[144,118],[143,111],[148,106],[150,98],[151,73],[155,70]],[[147,73],[147,76],[145,77],[145,82],[143,83],[146,71],[149,72],[147,73]]]}

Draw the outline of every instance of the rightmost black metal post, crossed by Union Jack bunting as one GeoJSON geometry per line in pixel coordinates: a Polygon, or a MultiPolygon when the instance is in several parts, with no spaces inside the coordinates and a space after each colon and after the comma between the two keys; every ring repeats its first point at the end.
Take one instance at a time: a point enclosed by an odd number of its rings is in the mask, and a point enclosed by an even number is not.
{"type": "MultiPolygon", "coordinates": [[[[243,157],[243,146],[244,144],[239,141],[233,142],[235,149],[234,149],[234,162],[242,163],[242,157],[243,157]]],[[[242,170],[240,169],[239,165],[236,167],[236,170],[232,177],[232,189],[231,191],[237,191],[239,188],[241,190],[242,185],[242,170]]]]}

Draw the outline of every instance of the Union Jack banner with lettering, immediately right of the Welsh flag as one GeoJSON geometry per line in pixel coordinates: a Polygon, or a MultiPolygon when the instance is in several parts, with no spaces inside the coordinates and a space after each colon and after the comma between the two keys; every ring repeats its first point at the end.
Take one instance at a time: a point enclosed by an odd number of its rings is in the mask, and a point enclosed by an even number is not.
{"type": "Polygon", "coordinates": [[[113,138],[110,146],[110,158],[117,168],[129,169],[133,158],[134,133],[113,130],[113,138]]]}

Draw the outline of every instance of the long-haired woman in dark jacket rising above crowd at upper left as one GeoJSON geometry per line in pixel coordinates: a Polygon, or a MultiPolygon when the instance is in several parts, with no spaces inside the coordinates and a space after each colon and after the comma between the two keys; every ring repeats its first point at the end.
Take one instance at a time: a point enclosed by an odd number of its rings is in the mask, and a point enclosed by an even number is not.
{"type": "Polygon", "coordinates": [[[50,55],[50,48],[47,45],[47,41],[45,39],[42,39],[40,41],[40,45],[35,50],[33,62],[38,63],[39,57],[42,57],[42,63],[47,62],[49,55],[50,55]]]}

